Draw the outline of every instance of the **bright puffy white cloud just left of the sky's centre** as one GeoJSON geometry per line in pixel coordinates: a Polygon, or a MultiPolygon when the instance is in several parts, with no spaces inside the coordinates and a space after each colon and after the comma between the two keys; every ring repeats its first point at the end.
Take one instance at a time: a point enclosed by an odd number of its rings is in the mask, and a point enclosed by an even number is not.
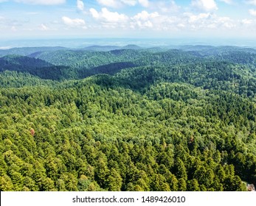
{"type": "Polygon", "coordinates": [[[100,12],[97,12],[94,8],[90,9],[90,13],[93,18],[111,23],[123,23],[128,21],[128,16],[117,12],[111,12],[106,8],[103,8],[100,12]]]}

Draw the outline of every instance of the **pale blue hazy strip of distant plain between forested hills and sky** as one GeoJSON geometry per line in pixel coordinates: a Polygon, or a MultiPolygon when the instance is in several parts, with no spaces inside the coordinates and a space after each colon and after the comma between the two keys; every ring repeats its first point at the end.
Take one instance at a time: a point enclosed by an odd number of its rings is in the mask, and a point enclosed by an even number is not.
{"type": "Polygon", "coordinates": [[[203,46],[241,46],[256,47],[253,39],[194,39],[194,38],[49,38],[49,39],[14,39],[0,40],[0,49],[20,47],[63,46],[71,49],[80,49],[87,46],[127,46],[165,47],[184,45],[203,46]]]}

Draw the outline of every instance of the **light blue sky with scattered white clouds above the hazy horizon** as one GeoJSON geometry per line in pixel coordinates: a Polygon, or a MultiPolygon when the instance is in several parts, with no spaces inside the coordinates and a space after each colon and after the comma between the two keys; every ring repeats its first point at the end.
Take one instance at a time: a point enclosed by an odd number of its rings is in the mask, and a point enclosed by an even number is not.
{"type": "Polygon", "coordinates": [[[0,0],[0,38],[256,38],[256,0],[0,0]]]}

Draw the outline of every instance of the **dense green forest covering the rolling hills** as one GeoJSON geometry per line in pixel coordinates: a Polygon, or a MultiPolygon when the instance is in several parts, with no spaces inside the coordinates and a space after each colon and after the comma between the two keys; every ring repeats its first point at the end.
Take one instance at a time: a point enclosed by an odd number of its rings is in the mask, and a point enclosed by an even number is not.
{"type": "Polygon", "coordinates": [[[0,191],[247,191],[256,50],[0,50],[0,191]]]}

